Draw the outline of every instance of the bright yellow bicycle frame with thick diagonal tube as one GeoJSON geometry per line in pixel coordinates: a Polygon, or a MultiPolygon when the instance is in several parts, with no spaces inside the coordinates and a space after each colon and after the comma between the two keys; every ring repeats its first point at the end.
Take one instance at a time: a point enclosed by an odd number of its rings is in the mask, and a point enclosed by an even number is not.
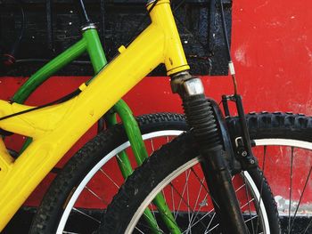
{"type": "MultiPolygon", "coordinates": [[[[160,63],[168,75],[189,69],[169,0],[160,0],[150,16],[152,24],[127,48],[121,46],[78,96],[0,121],[1,129],[33,139],[16,160],[0,139],[0,231],[70,147],[152,69],[160,63]]],[[[0,101],[0,117],[30,108],[0,101]]]]}

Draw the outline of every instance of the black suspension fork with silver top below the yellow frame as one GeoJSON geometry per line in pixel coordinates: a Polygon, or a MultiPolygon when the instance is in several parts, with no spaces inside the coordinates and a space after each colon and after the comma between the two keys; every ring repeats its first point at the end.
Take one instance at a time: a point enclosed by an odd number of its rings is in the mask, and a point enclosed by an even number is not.
{"type": "Polygon", "coordinates": [[[184,71],[171,77],[171,89],[183,101],[188,125],[201,152],[201,167],[223,233],[248,233],[226,164],[222,135],[212,106],[204,95],[201,79],[184,71]]]}

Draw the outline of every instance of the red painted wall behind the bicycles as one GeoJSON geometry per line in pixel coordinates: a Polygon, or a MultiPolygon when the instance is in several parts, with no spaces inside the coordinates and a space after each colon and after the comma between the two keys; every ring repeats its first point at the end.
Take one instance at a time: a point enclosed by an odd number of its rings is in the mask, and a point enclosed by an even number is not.
{"type": "MultiPolygon", "coordinates": [[[[309,0],[234,1],[232,54],[246,111],[281,110],[312,115],[312,17],[309,9],[312,9],[309,0]]],[[[85,79],[53,77],[32,95],[29,104],[55,100],[85,79]]],[[[24,77],[2,77],[0,98],[12,96],[24,81],[24,77]]],[[[203,77],[203,82],[207,95],[218,101],[222,93],[231,93],[229,77],[203,77]]],[[[145,78],[126,95],[125,100],[135,115],[182,111],[177,96],[171,94],[168,77],[145,78]]],[[[93,133],[87,133],[84,141],[93,133]]],[[[16,145],[16,141],[7,143],[16,145]]],[[[83,141],[79,141],[70,154],[82,144],[83,141]]],[[[272,161],[272,165],[276,164],[276,160],[272,161]]],[[[312,161],[309,163],[312,164],[312,161]]],[[[301,162],[297,171],[306,170],[304,165],[307,162],[301,162]]],[[[275,175],[285,171],[284,165],[274,171],[272,167],[266,168],[275,194],[282,197],[287,195],[288,182],[283,180],[283,176],[282,179],[275,179],[275,175]]],[[[37,204],[46,183],[48,180],[29,198],[28,205],[37,204]]],[[[312,188],[311,184],[309,186],[312,188]]]]}

